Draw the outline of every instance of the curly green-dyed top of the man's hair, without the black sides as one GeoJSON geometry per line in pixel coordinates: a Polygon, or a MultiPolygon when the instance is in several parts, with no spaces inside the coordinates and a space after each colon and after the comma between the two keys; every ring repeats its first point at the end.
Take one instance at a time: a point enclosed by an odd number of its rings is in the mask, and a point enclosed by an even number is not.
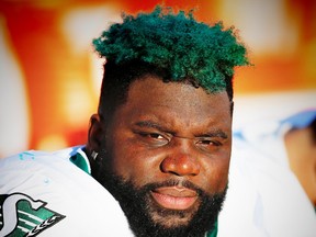
{"type": "Polygon", "coordinates": [[[225,90],[235,66],[249,65],[246,47],[233,27],[222,22],[196,22],[193,12],[172,13],[157,7],[151,13],[123,15],[93,40],[95,50],[114,65],[139,61],[168,71],[169,80],[191,78],[214,93],[225,90]]]}

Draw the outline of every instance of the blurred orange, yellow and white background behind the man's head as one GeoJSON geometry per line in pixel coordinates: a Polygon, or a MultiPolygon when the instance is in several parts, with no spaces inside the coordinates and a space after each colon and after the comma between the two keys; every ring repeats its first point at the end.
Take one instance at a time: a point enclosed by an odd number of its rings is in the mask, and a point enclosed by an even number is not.
{"type": "Polygon", "coordinates": [[[0,157],[84,144],[102,79],[92,38],[157,3],[238,30],[255,66],[235,76],[235,127],[316,106],[315,0],[0,0],[0,157]]]}

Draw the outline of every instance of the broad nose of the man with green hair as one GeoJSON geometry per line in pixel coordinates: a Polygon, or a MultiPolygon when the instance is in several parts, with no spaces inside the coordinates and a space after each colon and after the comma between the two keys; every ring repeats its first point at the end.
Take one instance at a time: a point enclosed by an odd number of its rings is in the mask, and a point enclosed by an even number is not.
{"type": "Polygon", "coordinates": [[[161,171],[176,176],[198,176],[201,167],[198,157],[194,157],[191,149],[193,148],[184,148],[181,145],[173,147],[161,161],[161,171]]]}

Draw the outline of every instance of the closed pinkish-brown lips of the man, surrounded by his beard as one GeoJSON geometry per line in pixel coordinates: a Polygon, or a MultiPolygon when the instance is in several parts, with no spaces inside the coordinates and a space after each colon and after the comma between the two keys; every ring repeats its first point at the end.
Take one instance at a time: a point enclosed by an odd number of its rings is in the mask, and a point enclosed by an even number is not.
{"type": "Polygon", "coordinates": [[[198,193],[182,187],[162,187],[151,191],[154,200],[169,210],[188,210],[198,200],[198,193]]]}

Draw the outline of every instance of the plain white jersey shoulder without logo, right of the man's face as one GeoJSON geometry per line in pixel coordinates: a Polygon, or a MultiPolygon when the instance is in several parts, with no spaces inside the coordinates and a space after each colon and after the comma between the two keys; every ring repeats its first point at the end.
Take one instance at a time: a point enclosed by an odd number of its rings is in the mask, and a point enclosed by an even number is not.
{"type": "Polygon", "coordinates": [[[314,206],[286,158],[289,124],[257,122],[234,136],[218,237],[315,237],[314,206]]]}

